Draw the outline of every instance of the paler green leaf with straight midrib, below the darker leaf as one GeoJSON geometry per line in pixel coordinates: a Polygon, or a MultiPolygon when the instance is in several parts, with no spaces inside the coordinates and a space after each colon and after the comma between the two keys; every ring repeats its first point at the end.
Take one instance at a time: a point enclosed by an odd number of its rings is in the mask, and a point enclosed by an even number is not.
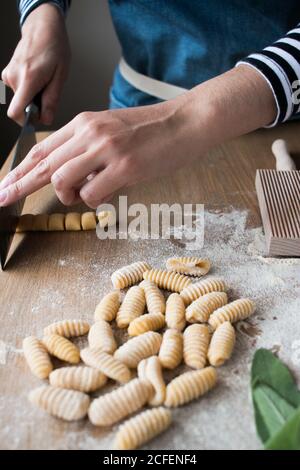
{"type": "Polygon", "coordinates": [[[253,401],[269,436],[278,432],[295,412],[295,408],[268,385],[258,385],[253,390],[253,401]]]}

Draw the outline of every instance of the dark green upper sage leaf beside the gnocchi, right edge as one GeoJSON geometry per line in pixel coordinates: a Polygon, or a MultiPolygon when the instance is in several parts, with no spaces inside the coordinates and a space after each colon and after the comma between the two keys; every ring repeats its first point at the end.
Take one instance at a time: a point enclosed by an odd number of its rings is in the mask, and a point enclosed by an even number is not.
{"type": "Polygon", "coordinates": [[[290,405],[300,406],[300,392],[289,369],[267,349],[258,349],[251,368],[252,389],[265,384],[275,390],[290,405]]]}

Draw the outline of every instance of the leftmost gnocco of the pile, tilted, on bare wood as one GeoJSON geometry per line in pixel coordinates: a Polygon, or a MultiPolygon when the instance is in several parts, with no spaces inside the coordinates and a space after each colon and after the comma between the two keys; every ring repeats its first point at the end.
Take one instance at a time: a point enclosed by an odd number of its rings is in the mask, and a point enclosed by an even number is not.
{"type": "Polygon", "coordinates": [[[35,336],[28,336],[23,340],[23,352],[31,372],[39,379],[46,379],[53,366],[43,343],[35,336]]]}

